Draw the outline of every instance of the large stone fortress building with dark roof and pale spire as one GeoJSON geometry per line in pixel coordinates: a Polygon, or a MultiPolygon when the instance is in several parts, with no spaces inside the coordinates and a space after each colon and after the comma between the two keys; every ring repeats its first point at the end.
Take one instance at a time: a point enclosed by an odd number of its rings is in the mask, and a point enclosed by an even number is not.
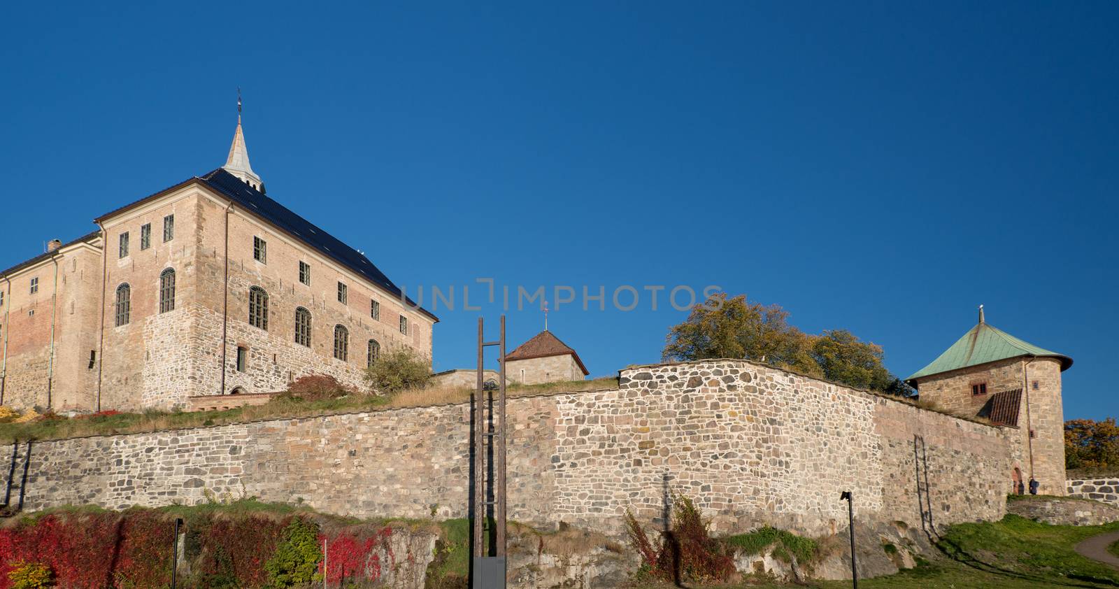
{"type": "Polygon", "coordinates": [[[310,373],[359,385],[392,346],[431,357],[434,315],[265,195],[239,114],[225,166],[95,223],[0,272],[0,404],[171,409],[310,373]]]}

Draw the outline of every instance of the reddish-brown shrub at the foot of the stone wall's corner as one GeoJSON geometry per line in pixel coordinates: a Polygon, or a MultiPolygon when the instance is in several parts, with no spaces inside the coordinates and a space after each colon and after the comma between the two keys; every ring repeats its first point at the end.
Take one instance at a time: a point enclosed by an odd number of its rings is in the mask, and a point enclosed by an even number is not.
{"type": "Polygon", "coordinates": [[[656,544],[633,514],[626,512],[630,543],[642,560],[638,574],[667,581],[726,580],[734,572],[734,560],[720,541],[711,537],[707,522],[690,498],[674,495],[673,499],[671,527],[656,544]]]}

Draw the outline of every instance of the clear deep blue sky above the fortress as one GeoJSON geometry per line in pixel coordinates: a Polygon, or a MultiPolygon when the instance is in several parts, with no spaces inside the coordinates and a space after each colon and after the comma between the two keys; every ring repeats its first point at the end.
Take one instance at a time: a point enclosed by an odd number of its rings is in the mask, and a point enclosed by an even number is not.
{"type": "MultiPolygon", "coordinates": [[[[0,267],[220,166],[241,86],[270,196],[459,289],[436,370],[473,362],[477,278],[717,284],[902,376],[985,303],[1075,359],[1065,418],[1119,413],[1115,3],[32,4],[0,24],[0,267]]],[[[641,293],[549,327],[592,375],[656,362],[686,314],[641,293]]]]}

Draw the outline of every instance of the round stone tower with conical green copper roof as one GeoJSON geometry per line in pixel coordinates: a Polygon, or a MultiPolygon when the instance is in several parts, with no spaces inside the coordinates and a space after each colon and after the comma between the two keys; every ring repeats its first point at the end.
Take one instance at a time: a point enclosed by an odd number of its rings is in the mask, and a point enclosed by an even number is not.
{"type": "Polygon", "coordinates": [[[1064,415],[1061,373],[1072,358],[979,322],[929,365],[905,378],[923,402],[941,411],[989,420],[1019,443],[1007,488],[1064,495],[1064,415]]]}

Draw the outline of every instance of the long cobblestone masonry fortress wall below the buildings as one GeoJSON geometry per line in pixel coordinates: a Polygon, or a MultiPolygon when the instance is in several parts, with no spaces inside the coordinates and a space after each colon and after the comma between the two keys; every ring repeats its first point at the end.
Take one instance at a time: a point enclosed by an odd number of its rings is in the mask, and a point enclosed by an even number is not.
{"type": "MultiPolygon", "coordinates": [[[[622,371],[611,391],[509,401],[509,513],[621,531],[659,516],[666,486],[720,532],[769,523],[824,534],[857,516],[920,525],[998,518],[1002,429],[742,361],[622,371]],[[914,452],[913,437],[924,440],[914,452]]],[[[466,515],[466,404],[40,442],[26,505],[198,503],[205,490],[358,516],[466,515]]]]}

